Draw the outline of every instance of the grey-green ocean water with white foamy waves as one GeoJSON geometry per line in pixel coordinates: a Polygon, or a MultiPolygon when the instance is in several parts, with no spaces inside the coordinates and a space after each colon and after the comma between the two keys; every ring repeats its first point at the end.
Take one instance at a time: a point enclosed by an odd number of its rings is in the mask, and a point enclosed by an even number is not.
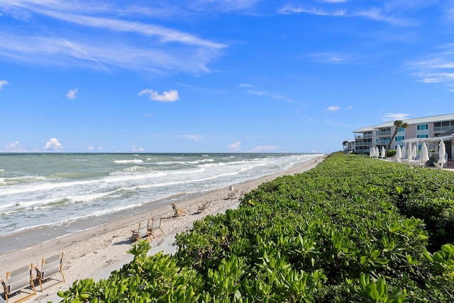
{"type": "Polygon", "coordinates": [[[24,231],[62,236],[143,206],[284,171],[316,156],[0,153],[0,253],[17,248],[9,241],[23,242],[24,231]]]}

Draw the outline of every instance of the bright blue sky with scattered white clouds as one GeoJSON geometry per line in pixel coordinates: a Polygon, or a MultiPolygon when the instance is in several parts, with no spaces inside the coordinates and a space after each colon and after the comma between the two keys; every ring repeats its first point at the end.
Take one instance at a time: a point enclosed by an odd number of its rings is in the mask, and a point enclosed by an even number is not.
{"type": "Polygon", "coordinates": [[[0,152],[331,153],[454,113],[454,1],[0,0],[0,152]]]}

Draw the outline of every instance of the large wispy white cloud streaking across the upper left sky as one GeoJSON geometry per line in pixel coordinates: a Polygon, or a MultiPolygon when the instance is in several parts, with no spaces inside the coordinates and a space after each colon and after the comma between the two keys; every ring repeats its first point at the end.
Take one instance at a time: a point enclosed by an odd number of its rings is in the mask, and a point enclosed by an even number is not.
{"type": "Polygon", "coordinates": [[[60,26],[48,28],[49,34],[45,36],[33,35],[33,31],[24,35],[11,28],[4,31],[0,26],[0,57],[102,70],[121,67],[155,73],[165,70],[199,73],[209,72],[208,63],[226,48],[223,43],[153,24],[149,18],[141,20],[128,12],[112,4],[102,6],[96,2],[2,1],[0,13],[5,16],[23,23],[35,16],[51,18],[60,26]],[[67,26],[74,24],[94,31],[84,35],[80,34],[82,31],[68,32],[67,26]]]}

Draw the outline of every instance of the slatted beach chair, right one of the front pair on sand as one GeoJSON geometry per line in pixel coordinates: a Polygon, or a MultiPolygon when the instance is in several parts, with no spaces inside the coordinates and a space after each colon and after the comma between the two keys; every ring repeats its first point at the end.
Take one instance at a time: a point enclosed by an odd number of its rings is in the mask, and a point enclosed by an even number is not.
{"type": "Polygon", "coordinates": [[[57,255],[52,255],[48,258],[43,258],[41,261],[41,268],[35,266],[36,280],[40,283],[41,292],[55,285],[60,285],[66,282],[65,275],[63,275],[62,263],[63,252],[58,253],[57,255]],[[57,279],[57,275],[61,276],[61,280],[57,279]],[[47,285],[43,287],[43,284],[47,285]]]}

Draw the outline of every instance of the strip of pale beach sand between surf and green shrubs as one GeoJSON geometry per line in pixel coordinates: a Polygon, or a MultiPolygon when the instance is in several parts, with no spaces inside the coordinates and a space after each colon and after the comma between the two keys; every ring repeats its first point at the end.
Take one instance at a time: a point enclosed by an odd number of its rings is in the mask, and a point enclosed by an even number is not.
{"type": "MultiPolygon", "coordinates": [[[[141,212],[87,231],[72,233],[29,248],[4,253],[0,256],[0,278],[5,279],[7,271],[21,268],[30,263],[33,263],[34,266],[38,265],[39,268],[42,258],[63,252],[63,273],[66,283],[50,287],[43,292],[40,292],[38,285],[36,287],[37,295],[26,301],[59,302],[60,297],[57,296],[57,291],[69,289],[74,281],[86,277],[92,277],[96,281],[101,280],[109,277],[112,271],[118,270],[124,264],[131,262],[133,255],[126,252],[132,247],[131,230],[137,229],[140,221],[152,217],[159,218],[162,215],[162,231],[164,233],[157,231],[156,237],[150,241],[152,249],[149,254],[160,251],[174,254],[177,250],[177,247],[173,245],[175,235],[182,231],[189,231],[195,220],[202,219],[207,214],[219,214],[226,209],[235,209],[240,204],[239,200],[245,192],[282,175],[294,175],[310,170],[325,157],[326,155],[313,158],[287,171],[261,177],[257,180],[231,184],[231,186],[223,189],[176,200],[177,207],[186,211],[185,216],[174,217],[174,211],[170,205],[172,202],[169,201],[166,206],[162,206],[160,209],[141,212]],[[199,213],[199,206],[205,202],[210,202],[209,209],[199,213]]],[[[35,272],[33,272],[33,276],[35,276],[35,272]]]]}

